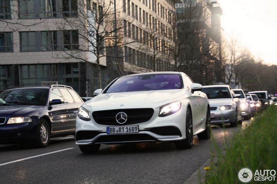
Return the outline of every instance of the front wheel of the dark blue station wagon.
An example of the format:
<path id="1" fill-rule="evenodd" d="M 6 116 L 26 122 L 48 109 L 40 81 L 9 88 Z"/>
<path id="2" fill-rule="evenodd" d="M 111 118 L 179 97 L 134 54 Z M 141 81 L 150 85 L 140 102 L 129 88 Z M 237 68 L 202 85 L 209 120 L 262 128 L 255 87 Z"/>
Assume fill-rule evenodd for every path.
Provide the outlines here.
<path id="1" fill-rule="evenodd" d="M 44 148 L 50 141 L 50 129 L 45 119 L 41 119 L 36 133 L 36 148 Z"/>

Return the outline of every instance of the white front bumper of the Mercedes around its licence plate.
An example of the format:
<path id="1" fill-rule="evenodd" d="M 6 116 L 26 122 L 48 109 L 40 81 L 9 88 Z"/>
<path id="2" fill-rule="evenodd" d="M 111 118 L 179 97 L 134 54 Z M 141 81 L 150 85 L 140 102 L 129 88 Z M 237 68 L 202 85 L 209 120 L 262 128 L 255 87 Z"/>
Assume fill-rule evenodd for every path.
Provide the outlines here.
<path id="1" fill-rule="evenodd" d="M 159 106 L 154 109 L 152 118 L 144 123 L 137 123 L 127 126 L 139 126 L 138 133 L 107 134 L 108 125 L 100 125 L 92 117 L 90 121 L 76 119 L 76 144 L 122 144 L 141 143 L 151 141 L 180 141 L 185 137 L 185 117 L 187 107 L 182 104 L 181 109 L 169 116 L 158 117 Z M 90 114 L 92 114 L 90 112 Z M 124 125 L 122 125 L 124 126 Z M 122 127 L 121 126 L 121 127 Z M 154 129 L 164 129 L 164 133 L 154 131 Z M 174 131 L 170 131 L 175 129 Z M 168 130 L 168 131 L 167 131 Z"/>

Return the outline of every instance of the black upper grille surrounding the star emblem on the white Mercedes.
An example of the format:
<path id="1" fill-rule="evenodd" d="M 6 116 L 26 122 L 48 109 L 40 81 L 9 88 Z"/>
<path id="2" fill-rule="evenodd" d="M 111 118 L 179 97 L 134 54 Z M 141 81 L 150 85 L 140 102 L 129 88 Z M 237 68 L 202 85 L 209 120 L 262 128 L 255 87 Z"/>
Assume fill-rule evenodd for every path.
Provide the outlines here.
<path id="1" fill-rule="evenodd" d="M 127 114 L 127 121 L 125 123 L 117 123 L 116 115 L 120 112 Z M 154 114 L 154 109 L 143 108 L 143 109 L 113 109 L 113 110 L 101 110 L 94 111 L 92 113 L 93 119 L 96 123 L 102 125 L 112 126 L 124 126 L 136 123 L 143 123 L 149 121 Z"/>

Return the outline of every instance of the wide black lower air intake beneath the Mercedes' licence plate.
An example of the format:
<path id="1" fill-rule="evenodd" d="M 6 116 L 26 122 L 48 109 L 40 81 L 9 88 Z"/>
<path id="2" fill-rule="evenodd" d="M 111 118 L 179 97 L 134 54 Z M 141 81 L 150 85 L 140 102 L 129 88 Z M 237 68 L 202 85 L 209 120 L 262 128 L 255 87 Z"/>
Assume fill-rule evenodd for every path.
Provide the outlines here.
<path id="1" fill-rule="evenodd" d="M 154 137 L 147 133 L 130 133 L 118 135 L 100 136 L 94 143 L 122 143 L 122 142 L 148 142 L 157 141 Z"/>

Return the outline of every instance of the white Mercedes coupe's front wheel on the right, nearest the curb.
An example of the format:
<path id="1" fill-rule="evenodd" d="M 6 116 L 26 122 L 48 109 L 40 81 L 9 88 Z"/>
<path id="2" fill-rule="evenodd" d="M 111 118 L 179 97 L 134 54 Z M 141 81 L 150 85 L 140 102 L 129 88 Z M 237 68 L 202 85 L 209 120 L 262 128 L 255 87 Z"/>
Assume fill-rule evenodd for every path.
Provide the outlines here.
<path id="1" fill-rule="evenodd" d="M 192 113 L 187 108 L 186 113 L 186 139 L 182 141 L 176 141 L 175 147 L 177 149 L 189 149 L 193 145 L 193 127 L 192 127 Z"/>

